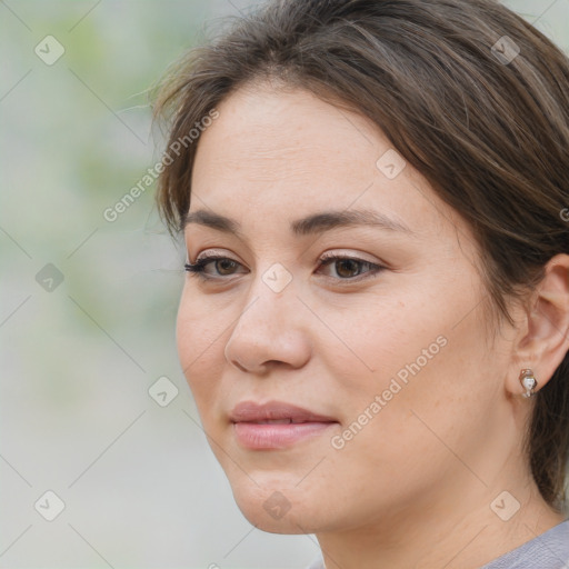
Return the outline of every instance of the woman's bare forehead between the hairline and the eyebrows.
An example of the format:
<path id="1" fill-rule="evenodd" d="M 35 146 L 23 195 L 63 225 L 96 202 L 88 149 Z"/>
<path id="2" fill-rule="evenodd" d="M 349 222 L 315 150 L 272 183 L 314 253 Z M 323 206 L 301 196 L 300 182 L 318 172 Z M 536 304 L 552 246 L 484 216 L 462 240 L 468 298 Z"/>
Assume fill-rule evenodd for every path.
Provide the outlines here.
<path id="1" fill-rule="evenodd" d="M 190 211 L 206 206 L 243 224 L 254 216 L 259 224 L 312 211 L 372 208 L 405 219 L 418 232 L 459 222 L 360 114 L 305 90 L 267 84 L 236 91 L 218 111 L 199 140 Z"/>

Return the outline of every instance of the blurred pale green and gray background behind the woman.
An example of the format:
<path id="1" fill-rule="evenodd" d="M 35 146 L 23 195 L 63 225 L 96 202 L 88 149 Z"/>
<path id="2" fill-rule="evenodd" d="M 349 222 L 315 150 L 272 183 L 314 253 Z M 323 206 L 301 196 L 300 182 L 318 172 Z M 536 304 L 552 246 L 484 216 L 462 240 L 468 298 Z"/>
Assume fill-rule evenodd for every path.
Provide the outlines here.
<path id="1" fill-rule="evenodd" d="M 506 3 L 569 51 L 569 0 Z M 199 428 L 174 347 L 184 256 L 153 186 L 103 216 L 160 159 L 148 89 L 249 4 L 0 1 L 0 568 L 318 553 L 244 520 Z"/>

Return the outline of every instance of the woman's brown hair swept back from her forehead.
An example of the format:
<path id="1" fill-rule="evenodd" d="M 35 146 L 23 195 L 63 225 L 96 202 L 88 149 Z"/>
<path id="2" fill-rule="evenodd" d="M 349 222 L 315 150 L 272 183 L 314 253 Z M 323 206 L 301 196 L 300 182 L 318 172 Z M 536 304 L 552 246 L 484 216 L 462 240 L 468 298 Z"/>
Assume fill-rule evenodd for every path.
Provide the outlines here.
<path id="1" fill-rule="evenodd" d="M 154 106 L 171 118 L 169 148 L 187 142 L 159 179 L 172 233 L 190 204 L 198 142 L 188 133 L 236 89 L 269 78 L 386 133 L 472 228 L 492 307 L 510 323 L 508 299 L 569 253 L 569 61 L 493 0 L 272 0 L 191 50 Z M 526 443 L 541 495 L 561 511 L 569 356 L 535 398 Z"/>

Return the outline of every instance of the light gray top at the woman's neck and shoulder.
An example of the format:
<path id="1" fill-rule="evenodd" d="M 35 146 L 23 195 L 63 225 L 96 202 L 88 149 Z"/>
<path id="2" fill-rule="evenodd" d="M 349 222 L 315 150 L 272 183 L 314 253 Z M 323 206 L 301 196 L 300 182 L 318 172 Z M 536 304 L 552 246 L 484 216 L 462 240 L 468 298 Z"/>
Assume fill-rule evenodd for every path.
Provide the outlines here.
<path id="1" fill-rule="evenodd" d="M 326 569 L 322 557 L 307 569 Z M 480 569 L 569 569 L 569 519 Z"/>

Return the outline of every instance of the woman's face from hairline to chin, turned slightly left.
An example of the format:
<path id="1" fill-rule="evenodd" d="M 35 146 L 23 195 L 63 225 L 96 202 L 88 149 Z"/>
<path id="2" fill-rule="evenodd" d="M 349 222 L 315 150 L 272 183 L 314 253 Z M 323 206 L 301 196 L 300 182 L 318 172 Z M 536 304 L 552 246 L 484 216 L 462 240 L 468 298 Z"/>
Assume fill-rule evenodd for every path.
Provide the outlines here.
<path id="1" fill-rule="evenodd" d="M 511 343 L 488 340 L 469 228 L 358 114 L 269 86 L 218 110 L 186 242 L 222 260 L 187 274 L 177 337 L 244 516 L 308 533 L 488 508 Z"/>

